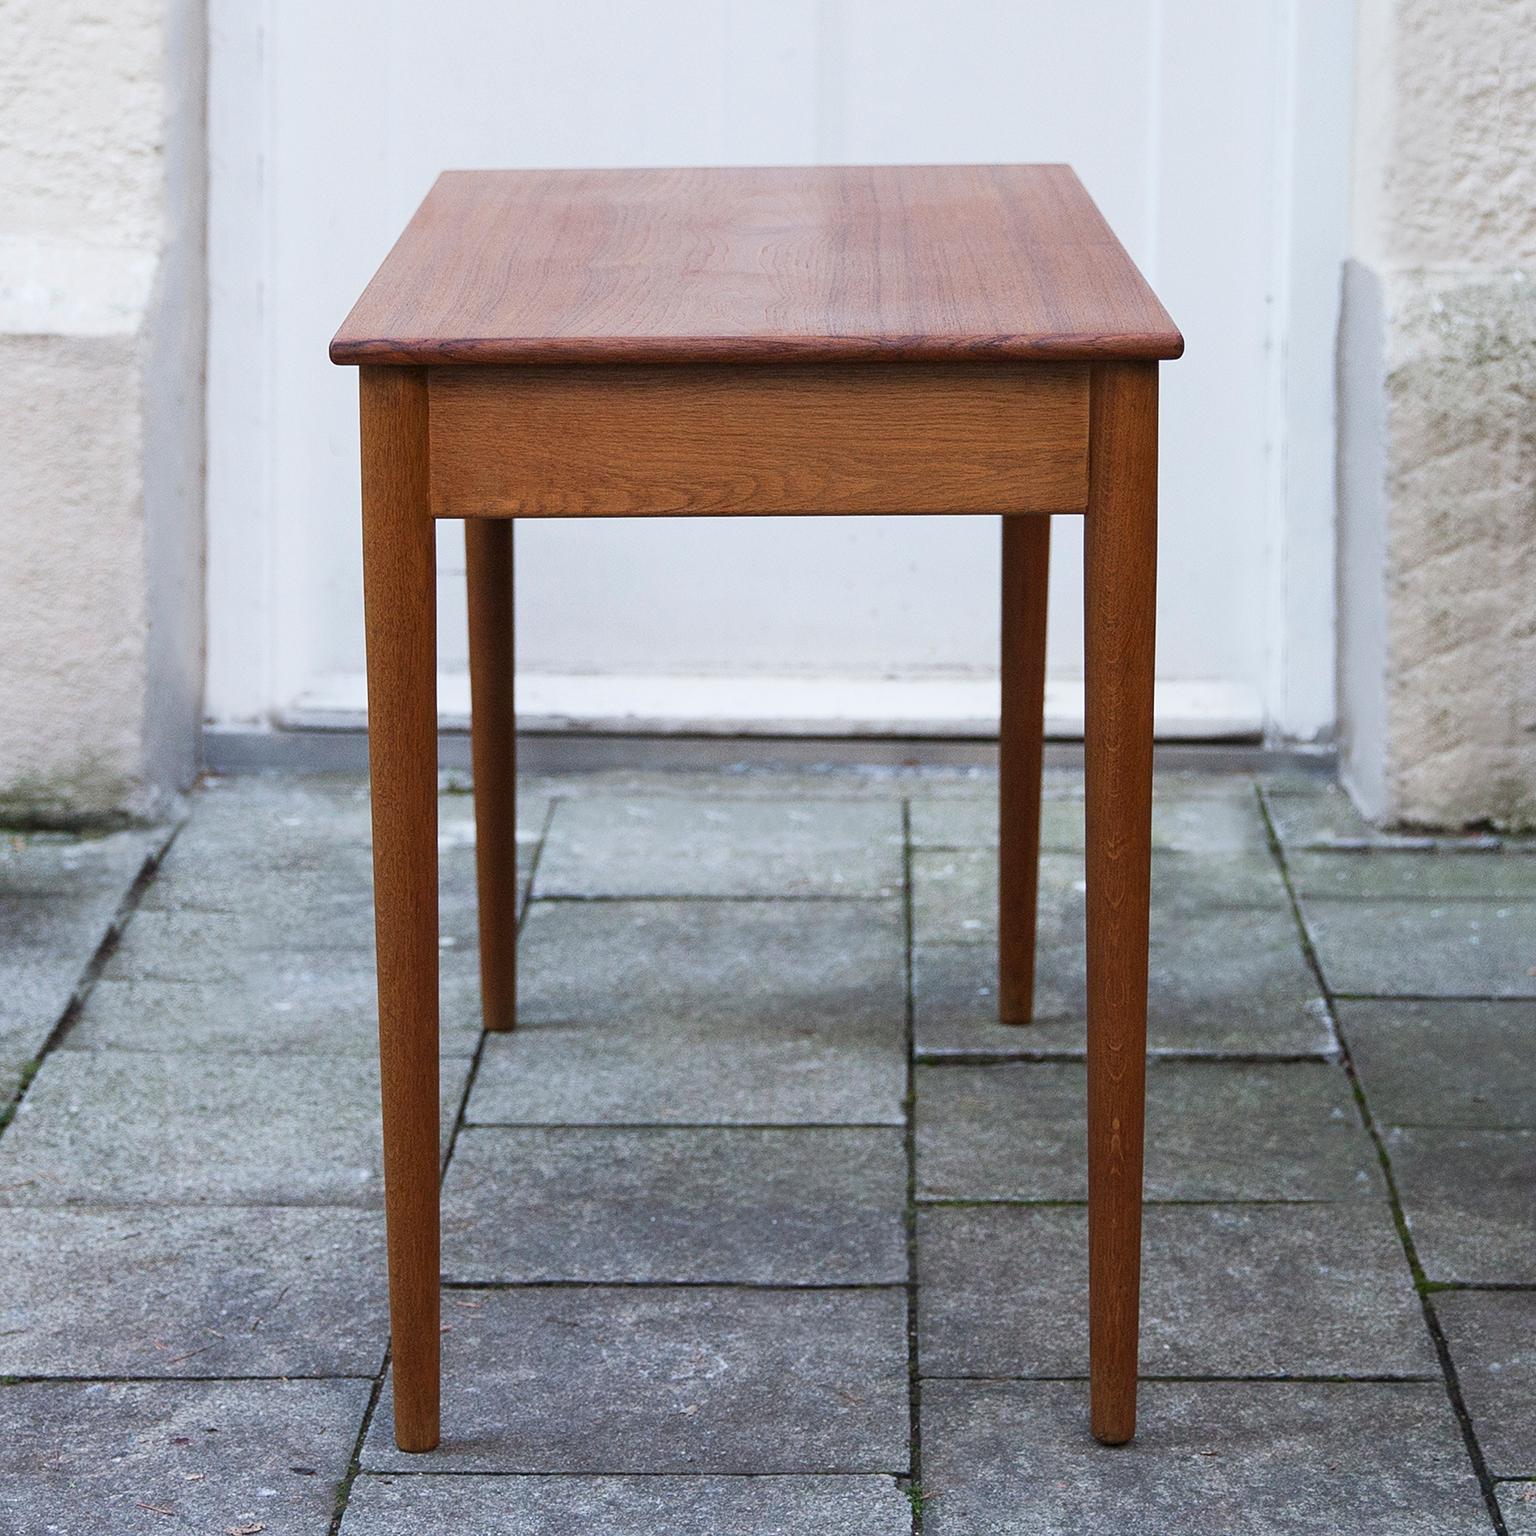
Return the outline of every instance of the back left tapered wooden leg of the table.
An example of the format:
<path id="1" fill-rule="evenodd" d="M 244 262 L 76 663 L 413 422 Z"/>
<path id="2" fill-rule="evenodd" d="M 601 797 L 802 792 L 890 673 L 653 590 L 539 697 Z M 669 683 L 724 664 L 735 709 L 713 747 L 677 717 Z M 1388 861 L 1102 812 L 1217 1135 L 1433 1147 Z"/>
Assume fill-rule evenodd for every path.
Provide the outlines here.
<path id="1" fill-rule="evenodd" d="M 511 519 L 464 524 L 470 605 L 470 753 L 479 886 L 481 1014 L 518 1020 L 518 725 L 513 703 Z"/>

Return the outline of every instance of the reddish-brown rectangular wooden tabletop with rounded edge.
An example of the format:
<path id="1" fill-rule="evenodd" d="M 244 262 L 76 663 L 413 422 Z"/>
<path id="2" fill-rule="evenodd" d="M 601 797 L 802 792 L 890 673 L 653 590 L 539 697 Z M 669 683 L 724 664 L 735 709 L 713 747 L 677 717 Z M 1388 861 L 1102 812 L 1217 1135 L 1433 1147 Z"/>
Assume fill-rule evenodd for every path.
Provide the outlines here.
<path id="1" fill-rule="evenodd" d="M 336 362 L 1175 358 L 1068 166 L 450 170 Z"/>

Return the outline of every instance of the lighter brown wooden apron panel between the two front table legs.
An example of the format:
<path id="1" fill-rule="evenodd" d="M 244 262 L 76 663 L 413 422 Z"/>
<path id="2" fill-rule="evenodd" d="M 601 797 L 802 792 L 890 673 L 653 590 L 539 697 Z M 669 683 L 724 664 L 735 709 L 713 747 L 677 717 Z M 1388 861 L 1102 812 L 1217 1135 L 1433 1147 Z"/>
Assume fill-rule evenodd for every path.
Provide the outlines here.
<path id="1" fill-rule="evenodd" d="M 1087 369 L 432 369 L 439 518 L 1081 511 Z"/>

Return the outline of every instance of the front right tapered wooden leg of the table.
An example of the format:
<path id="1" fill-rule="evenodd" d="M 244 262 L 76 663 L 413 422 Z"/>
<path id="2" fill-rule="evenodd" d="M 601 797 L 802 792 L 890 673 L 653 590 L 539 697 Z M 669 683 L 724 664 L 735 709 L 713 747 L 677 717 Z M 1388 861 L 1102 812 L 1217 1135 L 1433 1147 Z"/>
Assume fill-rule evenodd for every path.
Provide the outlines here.
<path id="1" fill-rule="evenodd" d="M 1084 536 L 1087 773 L 1087 1230 L 1092 1427 L 1137 1424 L 1157 364 L 1094 369 Z"/>

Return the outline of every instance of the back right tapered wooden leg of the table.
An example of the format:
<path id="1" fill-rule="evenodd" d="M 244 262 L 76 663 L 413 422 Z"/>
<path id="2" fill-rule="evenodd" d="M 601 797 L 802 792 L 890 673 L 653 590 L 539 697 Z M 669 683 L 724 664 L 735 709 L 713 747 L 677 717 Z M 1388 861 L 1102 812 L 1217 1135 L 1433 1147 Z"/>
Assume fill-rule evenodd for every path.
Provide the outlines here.
<path id="1" fill-rule="evenodd" d="M 1003 713 L 997 776 L 997 1017 L 1035 1008 L 1040 763 L 1044 751 L 1046 585 L 1051 519 L 1003 518 Z"/>

